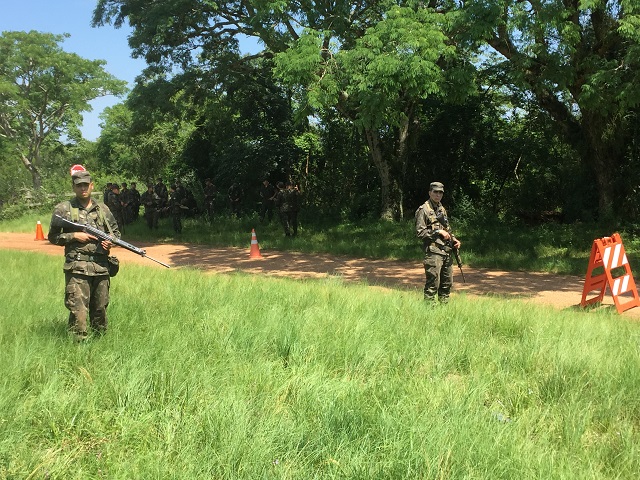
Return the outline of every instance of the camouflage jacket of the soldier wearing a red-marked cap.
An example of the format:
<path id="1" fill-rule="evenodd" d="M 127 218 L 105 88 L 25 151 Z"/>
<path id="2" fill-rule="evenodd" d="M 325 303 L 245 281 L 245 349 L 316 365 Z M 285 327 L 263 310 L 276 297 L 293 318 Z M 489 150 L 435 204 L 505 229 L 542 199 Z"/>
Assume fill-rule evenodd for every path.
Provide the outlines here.
<path id="1" fill-rule="evenodd" d="M 78 209 L 78 218 L 73 218 L 72 209 Z M 49 228 L 49 241 L 54 245 L 64 246 L 65 272 L 79 273 L 82 275 L 97 276 L 108 275 L 107 252 L 102 248 L 99 240 L 82 243 L 74 240 L 72 230 L 60 226 L 55 215 L 80 224 L 87 224 L 100 230 L 111 233 L 120 238 L 118 224 L 109 208 L 95 201 L 91 202 L 88 210 L 80 205 L 76 198 L 71 201 L 61 202 L 51 217 Z M 111 232 L 107 223 L 111 226 Z"/>

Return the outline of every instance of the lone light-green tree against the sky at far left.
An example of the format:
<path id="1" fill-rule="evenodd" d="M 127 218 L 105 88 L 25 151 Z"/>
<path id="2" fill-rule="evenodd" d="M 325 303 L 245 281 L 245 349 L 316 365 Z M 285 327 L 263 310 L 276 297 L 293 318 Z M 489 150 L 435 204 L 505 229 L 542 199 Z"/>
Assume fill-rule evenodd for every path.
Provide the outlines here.
<path id="1" fill-rule="evenodd" d="M 89 102 L 126 90 L 104 61 L 63 51 L 59 44 L 67 37 L 36 31 L 0 36 L 0 136 L 30 172 L 34 189 L 42 184 L 45 142 L 78 138 Z"/>

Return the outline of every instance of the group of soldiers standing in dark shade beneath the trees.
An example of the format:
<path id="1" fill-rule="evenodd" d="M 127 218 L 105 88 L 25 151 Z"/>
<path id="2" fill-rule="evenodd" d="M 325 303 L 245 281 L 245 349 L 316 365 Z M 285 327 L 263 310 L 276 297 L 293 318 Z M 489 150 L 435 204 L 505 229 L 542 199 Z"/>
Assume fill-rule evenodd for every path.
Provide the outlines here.
<path id="1" fill-rule="evenodd" d="M 202 212 L 213 218 L 216 212 L 217 188 L 210 178 L 205 180 L 203 188 L 204 202 Z M 300 210 L 300 189 L 293 182 L 277 182 L 274 186 L 268 179 L 262 182 L 260 195 L 260 221 L 271 222 L 274 212 L 278 213 L 286 236 L 298 234 L 298 212 Z M 239 183 L 233 183 L 227 191 L 231 215 L 240 216 L 244 200 L 244 190 Z M 144 206 L 144 219 L 149 229 L 157 229 L 161 217 L 170 216 L 173 230 L 182 232 L 182 218 L 195 216 L 198 205 L 191 190 L 185 188 L 180 181 L 167 187 L 162 178 L 156 183 L 147 183 L 147 190 L 140 193 L 135 182 L 131 188 L 122 183 L 108 183 L 104 191 L 104 202 L 113 213 L 120 232 L 125 225 L 138 219 L 140 206 Z"/>

